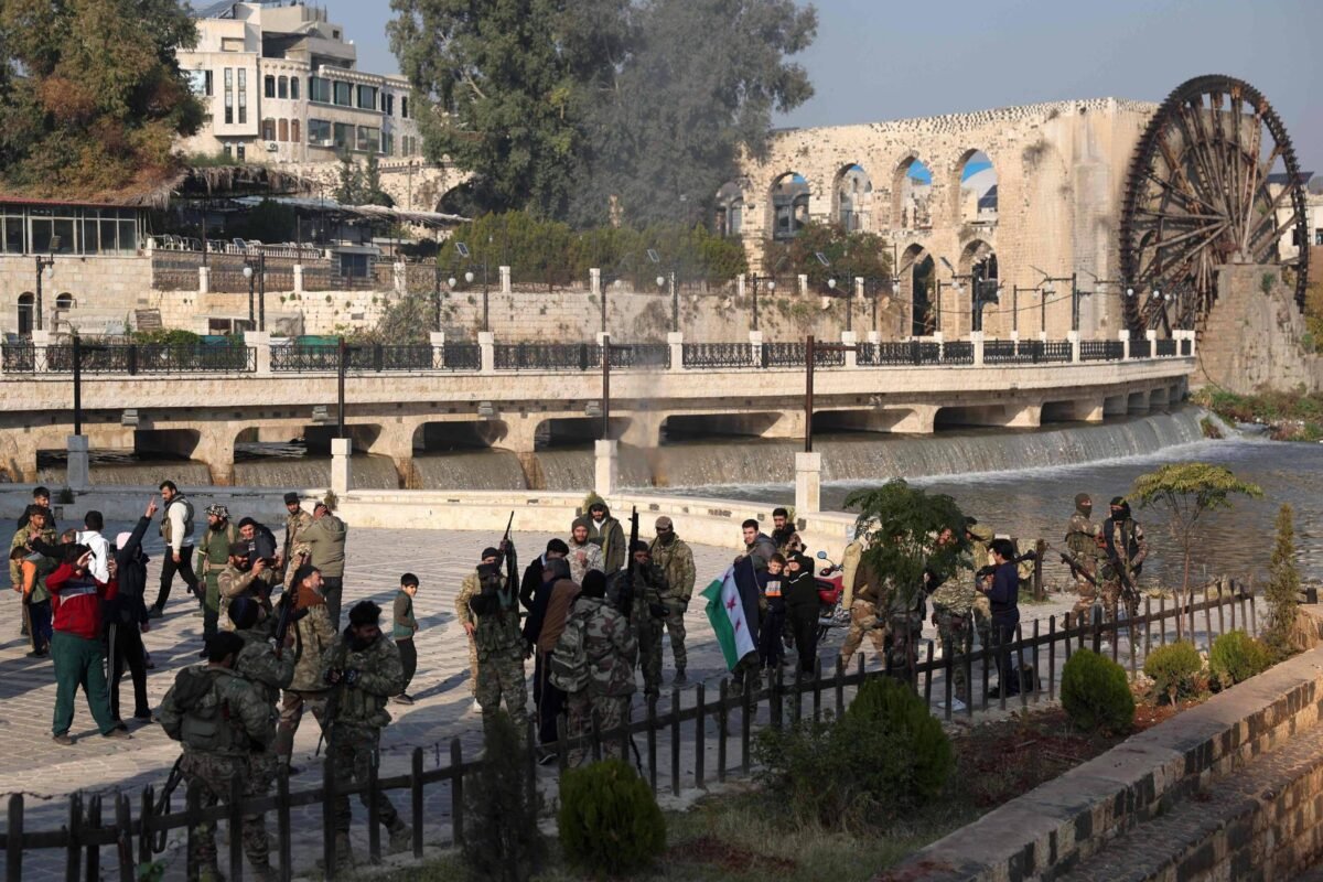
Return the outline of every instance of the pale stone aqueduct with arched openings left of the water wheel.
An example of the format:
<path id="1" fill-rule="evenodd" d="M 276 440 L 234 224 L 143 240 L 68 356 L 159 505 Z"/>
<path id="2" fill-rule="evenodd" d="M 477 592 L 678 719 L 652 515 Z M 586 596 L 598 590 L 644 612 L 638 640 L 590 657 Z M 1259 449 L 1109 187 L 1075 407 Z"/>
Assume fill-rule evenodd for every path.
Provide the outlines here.
<path id="1" fill-rule="evenodd" d="M 929 257 L 942 282 L 941 329 L 947 339 L 966 336 L 970 283 L 959 276 L 995 254 L 1003 295 L 984 313 L 988 336 L 1008 337 L 1012 329 L 1036 336 L 1045 312 L 1048 336 L 1064 337 L 1072 323 L 1069 280 L 1045 296 L 1021 291 L 1017 320 L 1013 286 L 1035 288 L 1044 272 L 1078 272 L 1078 287 L 1090 292 L 1080 301 L 1081 336 L 1114 339 L 1125 328 L 1115 280 L 1126 172 L 1156 107 L 1107 98 L 790 130 L 773 139 L 763 160 L 746 161 L 734 182 L 738 193 L 728 186 L 722 201 L 738 212 L 740 233 L 761 271 L 773 270 L 762 266 L 761 242 L 778 233 L 778 222 L 785 229 L 787 213 L 792 223 L 847 214 L 851 226 L 884 235 L 898 255 L 900 286 L 884 300 L 898 336 L 912 321 L 913 268 Z M 978 210 L 962 194 L 966 163 L 978 153 L 995 172 L 991 210 Z M 927 188 L 912 182 L 918 164 L 930 172 Z"/>

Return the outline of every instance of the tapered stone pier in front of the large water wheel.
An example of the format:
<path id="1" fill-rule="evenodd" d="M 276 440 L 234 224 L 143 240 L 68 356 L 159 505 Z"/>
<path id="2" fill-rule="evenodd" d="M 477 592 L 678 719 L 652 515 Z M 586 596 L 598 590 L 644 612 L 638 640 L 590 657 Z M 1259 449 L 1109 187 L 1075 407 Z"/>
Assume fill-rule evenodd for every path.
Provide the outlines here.
<path id="1" fill-rule="evenodd" d="M 1304 316 L 1274 266 L 1229 264 L 1220 270 L 1217 301 L 1199 345 L 1200 370 L 1191 385 L 1240 394 L 1323 389 L 1323 360 L 1304 352 Z"/>

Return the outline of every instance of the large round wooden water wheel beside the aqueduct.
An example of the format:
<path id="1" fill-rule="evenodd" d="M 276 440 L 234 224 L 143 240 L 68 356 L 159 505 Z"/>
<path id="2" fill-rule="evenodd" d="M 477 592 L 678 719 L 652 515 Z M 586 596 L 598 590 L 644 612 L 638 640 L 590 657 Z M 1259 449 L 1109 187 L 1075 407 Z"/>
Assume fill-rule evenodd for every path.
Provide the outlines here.
<path id="1" fill-rule="evenodd" d="M 1290 266 L 1303 308 L 1304 181 L 1286 127 L 1257 89 L 1196 77 L 1162 103 L 1130 163 L 1121 270 L 1131 332 L 1195 328 L 1225 263 Z"/>

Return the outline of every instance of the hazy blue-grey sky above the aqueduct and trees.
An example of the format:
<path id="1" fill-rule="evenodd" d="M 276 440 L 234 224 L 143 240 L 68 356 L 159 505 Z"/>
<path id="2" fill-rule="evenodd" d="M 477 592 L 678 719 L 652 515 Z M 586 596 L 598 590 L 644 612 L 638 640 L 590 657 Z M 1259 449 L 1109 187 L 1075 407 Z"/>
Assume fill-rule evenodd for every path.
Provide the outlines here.
<path id="1" fill-rule="evenodd" d="M 388 0 L 320 0 L 360 66 L 396 73 Z M 799 57 L 816 95 L 778 126 L 833 126 L 1066 98 L 1160 100 L 1225 73 L 1273 103 L 1323 175 L 1323 0 L 819 0 Z"/>

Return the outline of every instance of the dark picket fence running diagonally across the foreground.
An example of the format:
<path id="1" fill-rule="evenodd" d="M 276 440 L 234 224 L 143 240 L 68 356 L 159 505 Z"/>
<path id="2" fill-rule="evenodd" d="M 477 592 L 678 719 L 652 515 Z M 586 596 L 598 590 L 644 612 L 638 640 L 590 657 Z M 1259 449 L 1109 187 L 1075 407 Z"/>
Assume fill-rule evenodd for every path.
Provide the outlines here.
<path id="1" fill-rule="evenodd" d="M 1093 652 L 1110 653 L 1114 661 L 1129 666 L 1134 677 L 1143 659 L 1155 645 L 1166 645 L 1168 636 L 1193 640 L 1199 645 L 1199 624 L 1203 624 L 1204 648 L 1209 648 L 1217 633 L 1245 629 L 1257 633 L 1254 596 L 1232 581 L 1222 581 L 1205 590 L 1205 598 L 1197 602 L 1171 603 L 1159 598 L 1155 604 L 1144 598 L 1142 612 L 1134 616 L 1103 620 L 1101 615 L 1091 620 L 1085 616 L 1064 615 L 1033 620 L 1029 627 L 1017 625 L 1015 639 L 998 644 L 995 639 L 988 645 L 974 648 L 970 629 L 963 648 L 943 647 L 937 657 L 935 644 L 929 641 L 921 657 L 912 652 L 908 662 L 888 666 L 882 670 L 865 670 L 864 657 L 857 656 L 853 670 L 847 669 L 844 660 L 836 659 L 833 670 L 824 676 L 822 660 L 815 664 L 812 674 L 795 666 L 794 678 L 786 682 L 783 669 L 777 668 L 770 682 L 759 684 L 757 689 L 736 693 L 728 680 L 721 680 L 709 700 L 706 686 L 699 684 L 693 689 L 693 705 L 681 702 L 681 692 L 672 689 L 668 707 L 659 709 L 658 697 L 647 701 L 640 719 L 624 726 L 598 731 L 591 727 L 586 735 L 565 737 L 564 717 L 560 721 L 562 737 L 554 744 L 558 774 L 569 768 L 572 751 L 583 751 L 598 759 L 605 751 L 631 755 L 635 735 L 642 735 L 643 747 L 636 748 L 643 775 L 654 791 L 669 789 L 680 795 L 685 785 L 703 788 L 706 782 L 725 782 L 730 775 L 747 776 L 751 771 L 753 733 L 759 726 L 783 727 L 798 723 L 806 715 L 814 719 L 823 717 L 824 710 L 837 717 L 848 706 L 848 688 L 857 688 L 869 678 L 894 677 L 908 682 L 921 696 L 930 709 L 946 719 L 955 714 L 972 717 L 988 709 L 1007 710 L 1009 705 L 1028 709 L 1044 698 L 1053 701 L 1057 693 L 1057 661 L 1066 661 L 1074 652 L 1090 648 Z M 1175 631 L 1175 633 L 1172 633 Z M 1121 652 L 1121 643 L 1127 643 L 1127 651 Z M 906 640 L 906 645 L 917 647 L 919 641 Z M 1019 696 L 1008 696 L 999 688 L 992 694 L 991 676 L 998 669 L 1000 659 L 1009 657 L 1012 669 L 1019 672 L 1021 688 Z M 963 676 L 968 693 L 962 707 L 957 707 L 957 674 Z M 934 706 L 934 692 L 937 693 Z M 851 696 L 852 698 L 852 696 Z M 807 705 L 807 706 L 806 706 Z M 766 718 L 759 711 L 766 709 Z M 716 730 L 713 738 L 709 729 Z M 529 748 L 523 752 L 520 768 L 524 771 L 525 785 L 536 787 L 537 752 L 534 723 L 527 731 Z M 681 763 L 681 748 L 692 742 L 693 754 Z M 119 878 L 122 882 L 136 879 L 138 865 L 151 863 L 155 854 L 165 846 L 171 830 L 187 830 L 193 836 L 202 822 L 225 822 L 228 825 L 229 878 L 241 879 L 246 869 L 241 828 L 245 816 L 274 812 L 277 816 L 275 865 L 278 878 L 290 879 L 294 875 L 292 840 L 294 819 L 291 811 L 304 805 L 321 807 L 321 853 L 325 861 L 324 877 L 335 878 L 333 846 L 333 796 L 366 793 L 368 799 L 368 850 L 369 860 L 381 860 L 381 826 L 376 811 L 376 796 L 384 791 L 406 791 L 409 808 L 402 812 L 411 819 L 413 854 L 423 856 L 423 842 L 437 841 L 439 820 L 431 820 L 425 812 L 427 788 L 446 785 L 450 797 L 450 840 L 455 845 L 463 841 L 467 826 L 464 817 L 464 779 L 476 774 L 484 760 L 466 759 L 458 738 L 450 741 L 448 763 L 441 764 L 441 746 L 437 746 L 435 768 L 425 768 L 425 751 L 414 747 L 410 771 L 404 775 L 381 776 L 380 770 L 369 768 L 368 780 L 351 788 L 336 787 L 335 768 L 329 759 L 321 766 L 321 785 L 310 789 L 291 791 L 287 768 L 282 767 L 275 782 L 275 792 L 267 796 L 245 797 L 243 783 L 234 779 L 230 799 L 214 808 L 202 808 L 200 792 L 192 788 L 187 793 L 184 811 L 175 811 L 169 799 L 157 800 L 156 789 L 143 788 L 135 812 L 134 799 L 116 793 L 110 799 L 110 819 L 106 819 L 101 796 L 83 799 L 75 793 L 69 799 L 67 822 L 60 829 L 33 830 L 24 822 L 25 797 L 22 793 L 9 796 L 7 824 L 0 832 L 0 846 L 5 850 L 7 879 L 21 882 L 24 874 L 24 854 L 37 850 L 60 850 L 65 853 L 65 875 L 69 879 Z M 667 755 L 668 754 L 668 755 Z M 163 811 L 157 811 L 157 808 Z M 302 832 L 302 828 L 300 828 Z M 111 849 L 112 865 L 102 869 L 103 849 Z"/>

